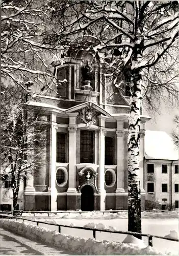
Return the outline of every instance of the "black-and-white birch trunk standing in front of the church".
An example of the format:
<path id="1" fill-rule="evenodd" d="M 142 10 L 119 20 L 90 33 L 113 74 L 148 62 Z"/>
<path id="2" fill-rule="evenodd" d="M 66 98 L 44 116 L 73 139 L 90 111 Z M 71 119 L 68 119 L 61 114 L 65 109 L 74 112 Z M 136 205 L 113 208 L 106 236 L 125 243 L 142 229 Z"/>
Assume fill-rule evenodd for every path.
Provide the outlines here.
<path id="1" fill-rule="evenodd" d="M 128 135 L 128 230 L 141 233 L 141 196 L 139 173 L 141 71 L 131 76 L 131 104 Z M 141 239 L 141 236 L 138 236 Z"/>

